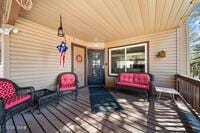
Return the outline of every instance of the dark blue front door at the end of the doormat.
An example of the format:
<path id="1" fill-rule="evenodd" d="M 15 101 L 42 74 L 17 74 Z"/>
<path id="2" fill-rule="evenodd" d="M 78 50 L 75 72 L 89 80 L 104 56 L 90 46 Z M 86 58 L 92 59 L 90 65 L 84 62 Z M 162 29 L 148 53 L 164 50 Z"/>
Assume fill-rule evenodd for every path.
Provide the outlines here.
<path id="1" fill-rule="evenodd" d="M 88 85 L 104 85 L 104 50 L 88 50 Z"/>

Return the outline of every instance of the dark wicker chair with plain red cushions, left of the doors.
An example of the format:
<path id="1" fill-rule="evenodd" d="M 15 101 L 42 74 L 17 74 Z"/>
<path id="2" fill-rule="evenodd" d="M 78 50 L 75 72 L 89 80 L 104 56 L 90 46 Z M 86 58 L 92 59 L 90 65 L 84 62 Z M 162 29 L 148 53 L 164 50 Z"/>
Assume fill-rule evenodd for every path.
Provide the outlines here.
<path id="1" fill-rule="evenodd" d="M 58 97 L 63 96 L 64 92 L 71 91 L 77 100 L 79 82 L 77 75 L 72 72 L 64 72 L 57 76 L 56 89 Z"/>

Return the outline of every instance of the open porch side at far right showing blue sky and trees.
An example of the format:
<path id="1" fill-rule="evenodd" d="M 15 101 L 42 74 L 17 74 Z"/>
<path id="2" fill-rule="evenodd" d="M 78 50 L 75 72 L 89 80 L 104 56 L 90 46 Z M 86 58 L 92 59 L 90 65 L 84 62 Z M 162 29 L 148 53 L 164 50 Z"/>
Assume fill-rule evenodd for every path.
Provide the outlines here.
<path id="1" fill-rule="evenodd" d="M 190 76 L 200 79 L 200 4 L 192 11 L 188 19 Z"/>

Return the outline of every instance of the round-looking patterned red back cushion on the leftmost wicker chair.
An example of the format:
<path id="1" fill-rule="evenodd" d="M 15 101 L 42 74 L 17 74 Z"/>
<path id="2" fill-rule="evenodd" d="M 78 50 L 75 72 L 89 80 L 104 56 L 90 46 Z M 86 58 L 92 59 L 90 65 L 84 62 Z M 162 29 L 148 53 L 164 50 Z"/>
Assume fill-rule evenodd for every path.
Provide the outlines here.
<path id="1" fill-rule="evenodd" d="M 15 88 L 12 83 L 0 81 L 0 98 L 7 99 L 15 94 Z"/>

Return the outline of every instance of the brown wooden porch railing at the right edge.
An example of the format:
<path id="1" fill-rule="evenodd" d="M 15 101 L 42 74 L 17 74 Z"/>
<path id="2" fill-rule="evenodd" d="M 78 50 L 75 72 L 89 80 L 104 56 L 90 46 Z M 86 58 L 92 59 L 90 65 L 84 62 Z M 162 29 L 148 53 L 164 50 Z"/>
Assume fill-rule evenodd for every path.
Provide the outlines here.
<path id="1" fill-rule="evenodd" d="M 200 81 L 187 76 L 176 75 L 176 89 L 179 91 L 188 106 L 191 107 L 191 111 L 199 116 Z"/>

